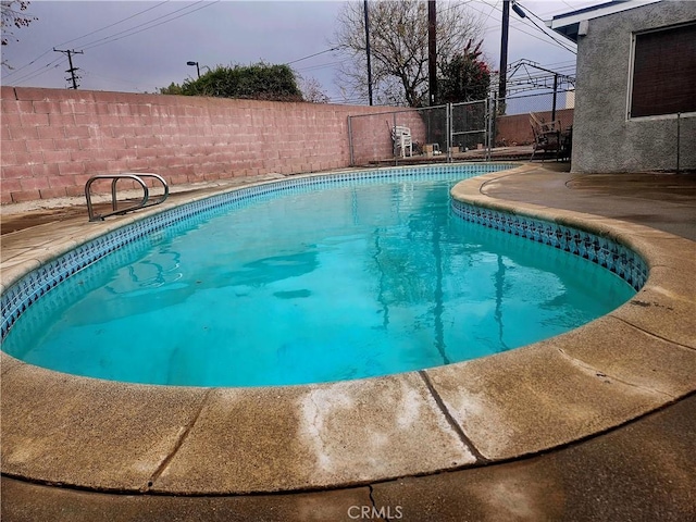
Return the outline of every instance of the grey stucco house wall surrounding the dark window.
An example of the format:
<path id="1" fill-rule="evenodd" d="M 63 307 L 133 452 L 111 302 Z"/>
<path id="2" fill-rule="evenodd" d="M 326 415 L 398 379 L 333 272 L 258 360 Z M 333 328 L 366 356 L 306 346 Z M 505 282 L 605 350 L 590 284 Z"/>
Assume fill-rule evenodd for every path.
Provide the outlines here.
<path id="1" fill-rule="evenodd" d="M 696 169 L 696 113 L 627 117 L 636 32 L 696 20 L 696 2 L 669 1 L 591 20 L 577 41 L 573 172 Z M 679 139 L 678 139 L 679 134 Z"/>

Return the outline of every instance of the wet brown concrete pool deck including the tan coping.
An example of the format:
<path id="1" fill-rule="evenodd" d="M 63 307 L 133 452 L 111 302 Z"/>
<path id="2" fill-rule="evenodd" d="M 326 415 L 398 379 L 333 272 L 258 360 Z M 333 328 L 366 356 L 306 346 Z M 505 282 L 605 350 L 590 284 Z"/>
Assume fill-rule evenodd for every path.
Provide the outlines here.
<path id="1" fill-rule="evenodd" d="M 352 506 L 403 520 L 688 520 L 696 184 L 556 166 L 457 192 L 621 238 L 650 265 L 629 303 L 499 356 L 314 386 L 124 385 L 3 355 L 3 520 L 356 520 Z M 88 224 L 83 212 L 3 235 L 3 288 L 146 213 Z"/>

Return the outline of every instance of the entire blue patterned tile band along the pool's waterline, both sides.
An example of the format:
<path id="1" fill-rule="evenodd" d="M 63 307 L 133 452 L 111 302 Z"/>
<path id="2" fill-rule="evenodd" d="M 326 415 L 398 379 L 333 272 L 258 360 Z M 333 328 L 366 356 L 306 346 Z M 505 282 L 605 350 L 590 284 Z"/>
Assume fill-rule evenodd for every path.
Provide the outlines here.
<path id="1" fill-rule="evenodd" d="M 227 212 L 250 202 L 271 198 L 278 192 L 298 194 L 328 187 L 368 185 L 389 179 L 426 181 L 438 178 L 443 175 L 452 175 L 452 179 L 465 179 L 490 172 L 510 170 L 515 166 L 518 165 L 509 163 L 474 163 L 321 174 L 244 187 L 185 203 L 87 241 L 23 276 L 8 288 L 0 299 L 2 312 L 0 338 L 4 339 L 22 313 L 47 291 L 70 276 L 144 236 L 159 231 L 176 228 L 177 224 L 188 217 Z M 647 265 L 643 259 L 633 250 L 606 237 L 551 222 L 484 209 L 458 200 L 452 200 L 452 209 L 457 215 L 467 221 L 537 243 L 544 243 L 588 259 L 614 272 L 636 290 L 647 279 Z"/>

